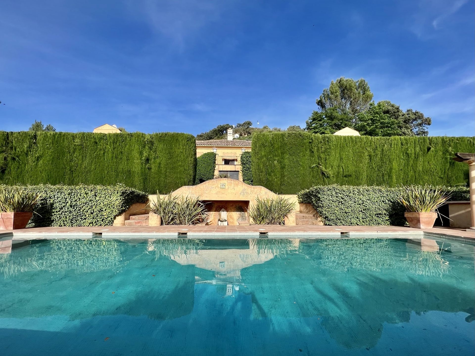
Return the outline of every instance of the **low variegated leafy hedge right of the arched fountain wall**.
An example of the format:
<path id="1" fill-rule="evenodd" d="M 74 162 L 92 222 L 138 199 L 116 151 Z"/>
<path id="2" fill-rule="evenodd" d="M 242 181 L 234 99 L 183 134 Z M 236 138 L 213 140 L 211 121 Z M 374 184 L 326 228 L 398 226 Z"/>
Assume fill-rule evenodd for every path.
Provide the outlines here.
<path id="1" fill-rule="evenodd" d="M 451 201 L 470 200 L 469 189 L 455 187 Z M 399 202 L 402 187 L 323 185 L 297 194 L 309 203 L 325 225 L 404 225 L 404 207 Z"/>

